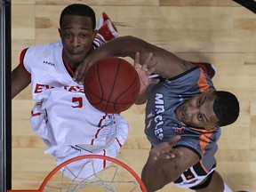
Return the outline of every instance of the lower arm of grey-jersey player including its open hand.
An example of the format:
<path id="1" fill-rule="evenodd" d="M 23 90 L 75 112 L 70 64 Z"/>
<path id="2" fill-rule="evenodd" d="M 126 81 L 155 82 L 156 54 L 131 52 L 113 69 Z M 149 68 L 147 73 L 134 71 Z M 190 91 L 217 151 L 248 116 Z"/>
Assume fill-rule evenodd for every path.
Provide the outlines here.
<path id="1" fill-rule="evenodd" d="M 188 148 L 172 148 L 177 140 L 180 140 L 180 136 L 150 150 L 148 161 L 141 173 L 148 192 L 156 191 L 177 180 L 182 172 L 199 161 L 196 153 Z"/>

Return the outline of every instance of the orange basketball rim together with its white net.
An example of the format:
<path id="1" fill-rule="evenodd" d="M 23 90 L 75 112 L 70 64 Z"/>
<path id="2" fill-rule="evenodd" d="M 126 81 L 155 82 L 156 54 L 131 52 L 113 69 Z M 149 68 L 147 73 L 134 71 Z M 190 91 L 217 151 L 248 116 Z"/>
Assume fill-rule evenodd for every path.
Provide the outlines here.
<path id="1" fill-rule="evenodd" d="M 108 164 L 99 169 L 97 162 Z M 79 164 L 76 172 L 70 167 Z M 88 170 L 88 165 L 90 169 Z M 147 192 L 142 180 L 128 165 L 109 156 L 84 155 L 76 156 L 58 165 L 44 179 L 37 190 L 8 190 L 8 192 Z"/>

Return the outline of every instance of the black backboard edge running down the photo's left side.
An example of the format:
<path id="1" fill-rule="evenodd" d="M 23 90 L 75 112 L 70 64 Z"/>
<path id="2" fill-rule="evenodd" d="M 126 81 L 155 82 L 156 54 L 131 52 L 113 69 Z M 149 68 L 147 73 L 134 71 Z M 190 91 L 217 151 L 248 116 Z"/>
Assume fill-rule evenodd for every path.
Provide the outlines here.
<path id="1" fill-rule="evenodd" d="M 0 0 L 0 191 L 11 188 L 11 0 Z"/>

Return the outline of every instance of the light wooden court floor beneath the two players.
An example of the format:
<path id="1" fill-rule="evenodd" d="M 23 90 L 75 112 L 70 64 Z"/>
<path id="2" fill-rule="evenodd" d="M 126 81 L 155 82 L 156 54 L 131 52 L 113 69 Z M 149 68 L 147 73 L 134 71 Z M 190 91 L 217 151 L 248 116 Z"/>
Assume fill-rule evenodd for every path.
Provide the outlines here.
<path id="1" fill-rule="evenodd" d="M 231 0 L 12 0 L 12 68 L 23 48 L 59 40 L 62 9 L 89 4 L 107 12 L 120 36 L 138 36 L 191 61 L 217 68 L 213 83 L 234 92 L 241 105 L 235 124 L 223 127 L 217 170 L 234 191 L 256 191 L 256 15 Z M 55 166 L 44 143 L 29 128 L 34 102 L 27 88 L 12 100 L 12 188 L 36 189 Z M 129 138 L 118 159 L 140 175 L 149 143 L 143 129 L 145 106 L 123 113 Z M 160 191 L 190 191 L 170 184 Z"/>

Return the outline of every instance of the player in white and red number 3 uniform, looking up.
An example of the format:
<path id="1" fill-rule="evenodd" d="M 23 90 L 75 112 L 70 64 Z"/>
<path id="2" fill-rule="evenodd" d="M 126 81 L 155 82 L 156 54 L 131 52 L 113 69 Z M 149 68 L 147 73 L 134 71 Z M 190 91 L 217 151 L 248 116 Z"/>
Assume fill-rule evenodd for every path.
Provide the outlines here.
<path id="1" fill-rule="evenodd" d="M 44 140 L 45 153 L 52 154 L 57 164 L 84 154 L 115 157 L 127 138 L 124 118 L 92 108 L 83 85 L 73 80 L 77 65 L 88 52 L 118 35 L 104 12 L 95 28 L 91 7 L 68 5 L 60 15 L 61 41 L 24 49 L 20 65 L 12 71 L 12 98 L 31 83 L 36 101 L 31 128 Z M 99 169 L 104 166 L 100 162 Z"/>

